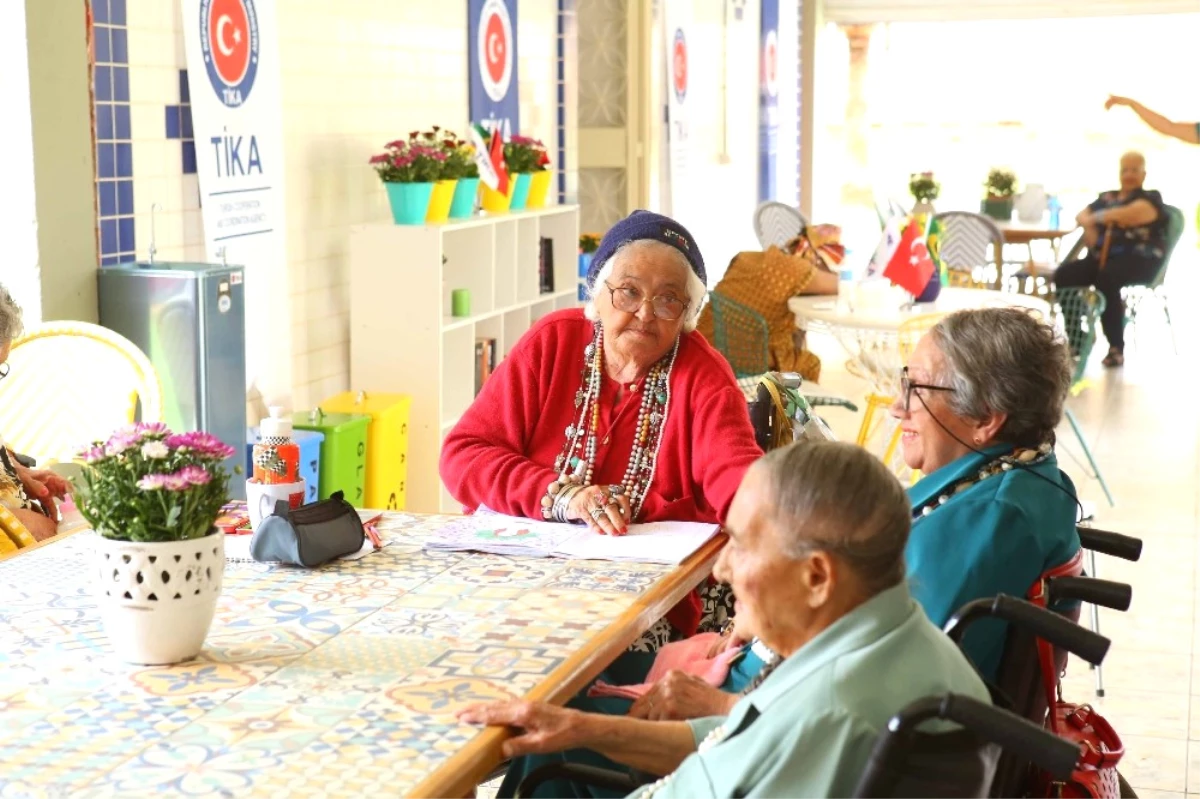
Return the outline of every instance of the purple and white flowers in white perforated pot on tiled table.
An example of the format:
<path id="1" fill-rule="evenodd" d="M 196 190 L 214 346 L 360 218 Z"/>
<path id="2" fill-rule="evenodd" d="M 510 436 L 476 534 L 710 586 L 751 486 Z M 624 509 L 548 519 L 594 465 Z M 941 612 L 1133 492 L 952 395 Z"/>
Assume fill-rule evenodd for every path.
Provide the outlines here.
<path id="1" fill-rule="evenodd" d="M 100 535 L 94 554 L 101 617 L 131 663 L 194 657 L 212 624 L 224 575 L 214 522 L 229 493 L 234 453 L 208 433 L 133 425 L 82 455 L 79 512 Z"/>

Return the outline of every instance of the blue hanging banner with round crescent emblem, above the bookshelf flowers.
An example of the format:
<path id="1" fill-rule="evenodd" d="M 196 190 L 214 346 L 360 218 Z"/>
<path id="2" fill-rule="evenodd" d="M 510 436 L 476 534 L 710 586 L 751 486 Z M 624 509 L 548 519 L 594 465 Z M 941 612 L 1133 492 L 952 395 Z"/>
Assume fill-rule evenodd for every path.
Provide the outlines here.
<path id="1" fill-rule="evenodd" d="M 470 121 L 504 140 L 520 131 L 517 0 L 467 0 Z"/>

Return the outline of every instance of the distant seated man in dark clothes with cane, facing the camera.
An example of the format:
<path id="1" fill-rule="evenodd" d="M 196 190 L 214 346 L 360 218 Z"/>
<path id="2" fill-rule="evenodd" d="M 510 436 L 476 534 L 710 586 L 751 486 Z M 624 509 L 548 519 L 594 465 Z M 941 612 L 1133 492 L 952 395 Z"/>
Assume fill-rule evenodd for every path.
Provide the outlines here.
<path id="1" fill-rule="evenodd" d="M 1121 289 L 1154 280 L 1166 257 L 1166 214 L 1163 197 L 1146 191 L 1146 160 L 1139 152 L 1121 156 L 1121 188 L 1104 192 L 1079 212 L 1087 256 L 1063 264 L 1056 286 L 1094 286 L 1104 295 L 1100 326 L 1109 341 L 1105 366 L 1124 364 L 1124 304 Z M 1079 319 L 1067 319 L 1070 328 Z"/>

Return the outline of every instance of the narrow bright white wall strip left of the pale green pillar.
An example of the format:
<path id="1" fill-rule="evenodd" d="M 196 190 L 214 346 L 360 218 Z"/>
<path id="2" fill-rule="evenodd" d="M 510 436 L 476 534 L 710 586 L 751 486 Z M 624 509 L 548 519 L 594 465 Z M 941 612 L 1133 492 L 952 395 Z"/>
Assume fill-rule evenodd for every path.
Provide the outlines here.
<path id="1" fill-rule="evenodd" d="M 0 125 L 0 152 L 6 156 L 4 214 L 0 214 L 0 238 L 6 252 L 0 283 L 24 307 L 29 325 L 41 320 L 42 284 L 37 266 L 37 198 L 24 2 L 11 4 L 0 25 L 0 108 L 11 112 Z"/>

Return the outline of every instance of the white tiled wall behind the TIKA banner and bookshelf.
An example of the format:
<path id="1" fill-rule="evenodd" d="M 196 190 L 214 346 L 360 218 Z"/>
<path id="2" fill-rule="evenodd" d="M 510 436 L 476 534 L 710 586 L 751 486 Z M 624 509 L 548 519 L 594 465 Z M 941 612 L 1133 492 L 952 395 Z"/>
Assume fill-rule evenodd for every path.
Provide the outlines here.
<path id="1" fill-rule="evenodd" d="M 179 102 L 179 4 L 127 0 L 137 242 L 157 221 L 158 257 L 202 258 L 196 175 L 164 138 Z M 287 185 L 287 301 L 293 402 L 312 407 L 349 389 L 348 232 L 390 220 L 367 166 L 383 144 L 430 125 L 467 126 L 467 4 L 421 0 L 278 0 Z M 521 0 L 521 128 L 551 145 L 556 130 L 554 0 Z M 248 348 L 259 342 L 247 342 Z M 397 342 L 397 346 L 403 346 Z M 368 389 L 370 386 L 354 386 Z"/>

